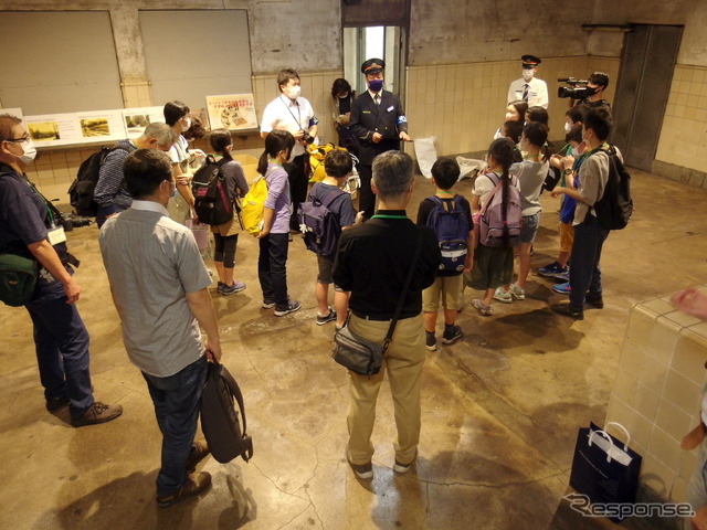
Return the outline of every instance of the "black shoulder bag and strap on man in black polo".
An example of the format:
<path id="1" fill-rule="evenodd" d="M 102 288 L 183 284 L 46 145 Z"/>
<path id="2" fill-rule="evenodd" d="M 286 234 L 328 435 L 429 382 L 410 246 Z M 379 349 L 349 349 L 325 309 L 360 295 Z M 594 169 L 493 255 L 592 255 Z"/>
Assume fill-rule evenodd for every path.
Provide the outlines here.
<path id="1" fill-rule="evenodd" d="M 395 306 L 395 312 L 390 321 L 388 333 L 383 343 L 366 339 L 354 333 L 349 327 L 348 321 L 341 329 L 334 333 L 334 349 L 331 351 L 331 358 L 341 364 L 344 368 L 349 369 L 354 373 L 359 375 L 376 375 L 380 372 L 383 364 L 383 357 L 388 350 L 388 346 L 392 341 L 393 332 L 395 331 L 395 325 L 400 319 L 402 312 L 402 306 L 412 282 L 412 275 L 420 257 L 420 250 L 422 247 L 422 232 L 418 236 L 418 243 L 415 245 L 414 255 L 408 269 L 408 276 L 402 287 L 402 293 L 398 298 L 398 305 Z"/>

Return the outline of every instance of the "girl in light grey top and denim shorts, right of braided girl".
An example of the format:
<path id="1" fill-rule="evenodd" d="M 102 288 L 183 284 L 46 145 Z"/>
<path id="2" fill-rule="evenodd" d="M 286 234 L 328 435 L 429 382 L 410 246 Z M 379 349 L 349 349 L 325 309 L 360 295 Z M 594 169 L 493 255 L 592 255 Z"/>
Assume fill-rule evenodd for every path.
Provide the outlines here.
<path id="1" fill-rule="evenodd" d="M 494 293 L 494 299 L 504 304 L 510 304 L 514 298 L 526 299 L 525 285 L 530 272 L 530 247 L 538 233 L 542 211 L 540 191 L 550 169 L 547 140 L 548 128 L 545 125 L 538 121 L 527 124 L 518 144 L 526 158 L 520 163 L 514 163 L 509 170 L 510 174 L 518 178 L 520 186 L 523 224 L 518 245 L 518 278 L 515 284 L 506 284 Z"/>

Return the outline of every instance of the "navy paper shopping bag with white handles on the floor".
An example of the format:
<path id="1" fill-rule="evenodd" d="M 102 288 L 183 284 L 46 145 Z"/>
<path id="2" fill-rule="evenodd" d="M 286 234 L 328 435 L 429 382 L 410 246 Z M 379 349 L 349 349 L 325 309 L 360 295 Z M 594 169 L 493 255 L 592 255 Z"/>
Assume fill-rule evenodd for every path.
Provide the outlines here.
<path id="1" fill-rule="evenodd" d="M 606 433 L 611 425 L 623 431 L 626 435 L 625 444 Z M 604 430 L 593 423 L 589 424 L 589 428 L 580 428 L 572 458 L 570 486 L 589 497 L 592 505 L 633 504 L 643 458 L 629 447 L 630 443 L 629 431 L 615 422 L 606 423 Z M 620 509 L 613 512 L 616 517 L 609 517 L 611 521 L 620 522 L 625 518 Z"/>

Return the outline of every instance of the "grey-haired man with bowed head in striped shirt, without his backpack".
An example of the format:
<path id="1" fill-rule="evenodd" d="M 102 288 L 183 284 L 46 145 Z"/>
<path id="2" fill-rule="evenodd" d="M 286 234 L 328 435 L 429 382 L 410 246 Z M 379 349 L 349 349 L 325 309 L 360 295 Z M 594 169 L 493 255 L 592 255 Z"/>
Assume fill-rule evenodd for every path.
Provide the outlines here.
<path id="1" fill-rule="evenodd" d="M 112 151 L 101 165 L 98 182 L 96 182 L 96 189 L 93 193 L 93 199 L 98 204 L 96 211 L 98 227 L 103 226 L 106 219 L 127 210 L 133 203 L 123 177 L 123 162 L 127 156 L 136 149 L 169 151 L 175 141 L 177 141 L 177 135 L 172 128 L 167 124 L 156 121 L 148 125 L 143 136 L 135 140 L 120 140 L 113 146 Z"/>

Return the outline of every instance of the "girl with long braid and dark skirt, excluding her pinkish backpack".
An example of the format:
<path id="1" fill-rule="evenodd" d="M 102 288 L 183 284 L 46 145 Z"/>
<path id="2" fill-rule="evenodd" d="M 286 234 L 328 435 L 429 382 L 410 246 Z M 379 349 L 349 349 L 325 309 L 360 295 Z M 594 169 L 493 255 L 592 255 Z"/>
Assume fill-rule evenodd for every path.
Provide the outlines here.
<path id="1" fill-rule="evenodd" d="M 472 210 L 478 212 L 490 200 L 496 183 L 500 181 L 502 188 L 502 215 L 506 221 L 508 216 L 509 187 L 518 186 L 518 180 L 511 177 L 514 144 L 508 138 L 494 140 L 486 159 L 486 169 L 476 177 L 472 191 Z M 513 276 L 513 246 L 508 241 L 508 229 L 504 233 L 505 244 L 502 246 L 484 246 L 481 242 L 474 252 L 474 266 L 471 275 L 466 275 L 466 283 L 472 288 L 483 290 L 482 298 L 472 300 L 474 308 L 483 316 L 493 314 L 490 307 L 494 293 L 497 287 L 510 283 Z"/>

